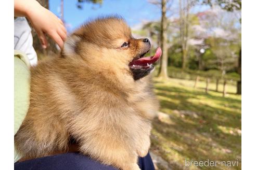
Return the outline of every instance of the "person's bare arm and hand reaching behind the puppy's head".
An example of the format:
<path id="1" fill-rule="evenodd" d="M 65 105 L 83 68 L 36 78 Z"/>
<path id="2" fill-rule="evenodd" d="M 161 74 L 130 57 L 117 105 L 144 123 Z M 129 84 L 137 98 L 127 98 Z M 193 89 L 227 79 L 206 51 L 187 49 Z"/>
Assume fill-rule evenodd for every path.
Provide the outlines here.
<path id="1" fill-rule="evenodd" d="M 63 47 L 63 42 L 67 37 L 67 31 L 63 22 L 50 12 L 48 9 L 41 6 L 35 0 L 15 0 L 14 1 L 14 16 L 27 17 L 39 36 L 42 47 L 47 47 L 45 33 L 48 34 L 60 48 Z"/>

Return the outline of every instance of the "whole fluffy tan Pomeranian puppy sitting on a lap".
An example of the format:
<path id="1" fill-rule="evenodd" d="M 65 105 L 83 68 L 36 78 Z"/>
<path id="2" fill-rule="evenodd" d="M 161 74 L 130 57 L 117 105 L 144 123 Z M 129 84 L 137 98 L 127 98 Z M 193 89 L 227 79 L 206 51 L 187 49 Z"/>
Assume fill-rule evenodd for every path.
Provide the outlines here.
<path id="1" fill-rule="evenodd" d="M 61 55 L 31 69 L 30 106 L 15 147 L 26 159 L 66 150 L 120 169 L 139 169 L 150 147 L 159 104 L 150 73 L 161 56 L 143 56 L 147 38 L 135 39 L 120 17 L 98 18 L 68 37 Z"/>

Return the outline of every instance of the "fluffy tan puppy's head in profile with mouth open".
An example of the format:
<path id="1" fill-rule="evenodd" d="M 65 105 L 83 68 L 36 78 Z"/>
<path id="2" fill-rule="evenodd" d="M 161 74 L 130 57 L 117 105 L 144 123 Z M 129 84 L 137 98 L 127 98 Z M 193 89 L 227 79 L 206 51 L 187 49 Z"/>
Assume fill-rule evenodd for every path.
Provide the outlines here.
<path id="1" fill-rule="evenodd" d="M 143 58 L 150 48 L 149 39 L 135 39 L 122 18 L 107 17 L 88 22 L 76 30 L 68 37 L 62 55 L 78 55 L 92 69 L 128 74 L 138 80 L 151 72 L 153 63 L 161 56 L 158 48 L 155 55 Z"/>

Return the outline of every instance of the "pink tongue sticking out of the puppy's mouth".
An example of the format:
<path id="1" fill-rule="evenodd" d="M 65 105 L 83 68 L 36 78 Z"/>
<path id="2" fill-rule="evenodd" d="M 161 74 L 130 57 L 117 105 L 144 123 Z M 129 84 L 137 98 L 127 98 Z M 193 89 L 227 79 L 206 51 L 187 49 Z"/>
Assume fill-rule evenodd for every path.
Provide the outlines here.
<path id="1" fill-rule="evenodd" d="M 155 55 L 153 56 L 148 56 L 146 58 L 140 58 L 137 60 L 134 60 L 130 63 L 130 65 L 148 65 L 148 64 L 152 64 L 155 63 L 156 61 L 158 61 L 158 59 L 160 59 L 160 56 L 162 55 L 162 50 L 160 47 L 157 48 Z"/>

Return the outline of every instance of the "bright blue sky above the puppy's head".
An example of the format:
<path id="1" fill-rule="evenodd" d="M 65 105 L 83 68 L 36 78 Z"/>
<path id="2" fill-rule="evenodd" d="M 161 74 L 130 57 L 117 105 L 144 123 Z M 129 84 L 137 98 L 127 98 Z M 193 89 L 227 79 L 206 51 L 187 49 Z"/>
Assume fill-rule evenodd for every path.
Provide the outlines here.
<path id="1" fill-rule="evenodd" d="M 60 2 L 60 0 L 49 0 L 49 8 L 57 16 L 60 16 Z M 78 9 L 76 2 L 77 0 L 64 0 L 64 19 L 69 25 L 67 28 L 69 31 L 74 30 L 89 19 L 111 14 L 122 16 L 131 27 L 161 18 L 160 8 L 149 3 L 148 0 L 104 0 L 101 6 L 83 3 L 83 9 Z M 177 2 L 174 0 L 173 6 Z M 196 11 L 204 9 L 197 8 Z"/>

